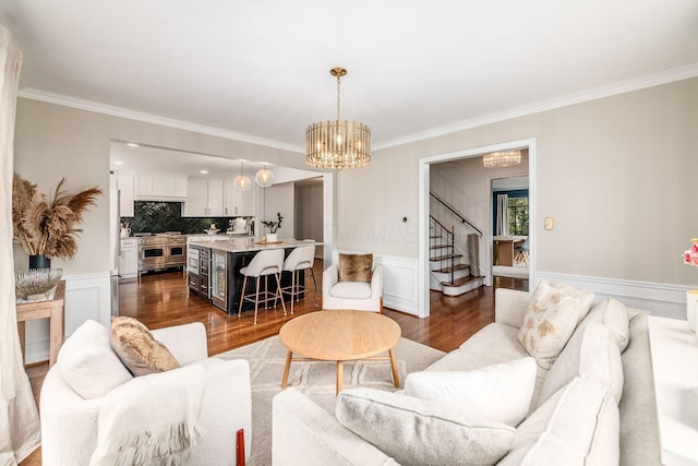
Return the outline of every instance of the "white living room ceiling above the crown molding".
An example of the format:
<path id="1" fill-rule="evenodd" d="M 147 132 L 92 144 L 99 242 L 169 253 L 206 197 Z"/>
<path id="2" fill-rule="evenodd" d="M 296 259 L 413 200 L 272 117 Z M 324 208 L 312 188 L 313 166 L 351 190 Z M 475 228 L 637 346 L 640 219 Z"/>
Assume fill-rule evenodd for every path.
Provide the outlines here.
<path id="1" fill-rule="evenodd" d="M 27 97 L 98 104 L 302 152 L 375 147 L 698 75 L 696 0 L 2 0 Z"/>

